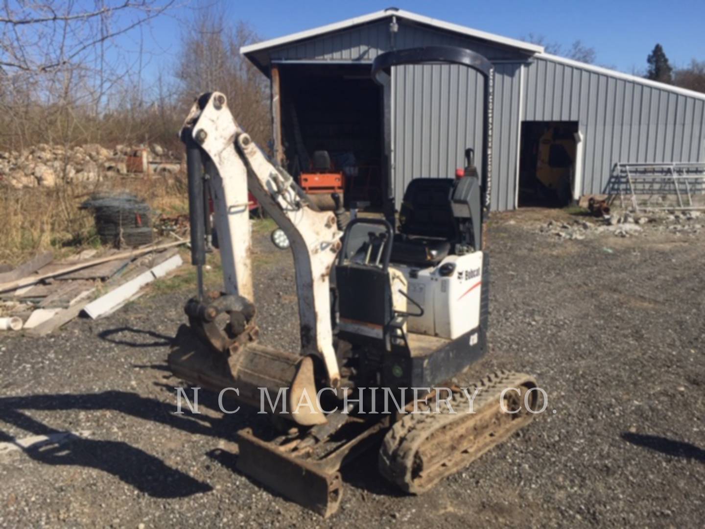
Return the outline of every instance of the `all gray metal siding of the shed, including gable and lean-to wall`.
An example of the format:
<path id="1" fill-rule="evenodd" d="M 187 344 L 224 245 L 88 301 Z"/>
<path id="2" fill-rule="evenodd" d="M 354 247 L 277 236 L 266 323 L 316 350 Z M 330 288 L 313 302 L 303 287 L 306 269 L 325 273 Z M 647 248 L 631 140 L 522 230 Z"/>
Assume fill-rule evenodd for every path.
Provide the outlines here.
<path id="1" fill-rule="evenodd" d="M 263 51 L 273 60 L 372 61 L 390 49 L 389 20 Z M 615 162 L 705 161 L 705 102 L 453 32 L 399 20 L 396 47 L 462 46 L 496 63 L 492 208 L 515 200 L 521 121 L 578 121 L 582 193 L 601 193 Z M 521 72 L 523 66 L 523 95 Z M 482 78 L 460 66 L 405 66 L 393 79 L 396 195 L 411 178 L 453 176 L 465 147 L 482 160 Z"/>

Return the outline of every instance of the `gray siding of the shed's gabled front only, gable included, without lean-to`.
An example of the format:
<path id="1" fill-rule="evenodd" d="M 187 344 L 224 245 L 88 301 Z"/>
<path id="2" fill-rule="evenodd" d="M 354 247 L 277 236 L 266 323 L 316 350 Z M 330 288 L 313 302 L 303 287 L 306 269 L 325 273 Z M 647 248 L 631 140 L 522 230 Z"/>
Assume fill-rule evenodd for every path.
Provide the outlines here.
<path id="1" fill-rule="evenodd" d="M 275 60 L 372 61 L 389 49 L 389 21 L 350 28 L 271 51 Z M 447 45 L 493 60 L 525 61 L 515 49 L 399 21 L 396 48 Z M 520 66 L 495 73 L 493 209 L 514 207 Z M 394 71 L 393 174 L 397 205 L 412 178 L 452 178 L 466 147 L 482 163 L 482 76 L 462 66 L 401 66 Z M 478 167 L 478 169 L 482 169 Z"/>

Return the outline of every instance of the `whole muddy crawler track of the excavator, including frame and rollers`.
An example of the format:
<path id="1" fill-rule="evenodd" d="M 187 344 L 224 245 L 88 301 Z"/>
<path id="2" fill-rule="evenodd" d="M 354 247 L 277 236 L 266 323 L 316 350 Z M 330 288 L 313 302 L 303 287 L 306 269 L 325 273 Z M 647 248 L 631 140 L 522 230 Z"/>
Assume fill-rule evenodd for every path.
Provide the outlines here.
<path id="1" fill-rule="evenodd" d="M 450 405 L 439 401 L 439 413 L 433 413 L 436 403 L 429 401 L 420 413 L 407 413 L 398 420 L 384 438 L 379 451 L 379 470 L 385 478 L 411 494 L 427 492 L 437 482 L 468 466 L 486 451 L 508 439 L 511 434 L 534 418 L 524 406 L 525 394 L 537 387 L 530 375 L 517 372 L 498 372 L 475 384 L 480 391 L 473 401 L 460 392 Z M 518 410 L 505 413 L 504 409 Z M 537 391 L 532 391 L 529 406 L 535 409 Z M 429 411 L 431 413 L 429 413 Z"/>

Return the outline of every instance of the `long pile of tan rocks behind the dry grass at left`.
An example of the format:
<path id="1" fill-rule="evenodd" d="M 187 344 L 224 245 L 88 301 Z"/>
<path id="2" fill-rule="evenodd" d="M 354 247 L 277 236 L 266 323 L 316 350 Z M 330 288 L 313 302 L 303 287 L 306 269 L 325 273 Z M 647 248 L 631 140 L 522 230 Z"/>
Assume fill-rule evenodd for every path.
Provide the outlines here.
<path id="1" fill-rule="evenodd" d="M 127 174 L 125 162 L 136 150 L 125 145 L 110 150 L 96 143 L 68 148 L 40 143 L 19 152 L 0 151 L 0 186 L 51 188 Z M 152 144 L 150 150 L 154 157 L 175 159 L 160 145 Z"/>

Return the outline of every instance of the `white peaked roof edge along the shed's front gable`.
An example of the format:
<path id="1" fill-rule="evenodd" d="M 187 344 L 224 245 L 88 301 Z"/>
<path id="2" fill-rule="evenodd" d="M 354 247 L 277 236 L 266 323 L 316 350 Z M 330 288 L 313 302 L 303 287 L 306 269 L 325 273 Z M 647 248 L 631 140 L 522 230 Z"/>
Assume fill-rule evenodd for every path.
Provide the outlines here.
<path id="1" fill-rule="evenodd" d="M 285 37 L 278 37 L 276 39 L 265 40 L 264 42 L 257 42 L 257 44 L 243 46 L 242 48 L 240 48 L 240 53 L 250 54 L 253 51 L 262 51 L 264 49 L 276 48 L 285 44 L 291 44 L 300 40 L 318 37 L 326 33 L 345 30 L 347 28 L 352 28 L 355 25 L 367 24 L 370 22 L 374 22 L 375 20 L 381 20 L 383 18 L 389 18 L 392 16 L 396 16 L 397 18 L 403 18 L 405 20 L 412 20 L 413 22 L 419 24 L 425 24 L 434 28 L 439 28 L 440 30 L 452 31 L 455 33 L 459 33 L 460 35 L 467 35 L 467 37 L 484 39 L 489 42 L 496 42 L 497 44 L 503 44 L 505 46 L 522 49 L 524 51 L 530 51 L 532 53 L 543 53 L 544 51 L 544 47 L 539 46 L 538 44 L 530 44 L 529 42 L 523 42 L 517 39 L 510 39 L 508 37 L 502 37 L 501 35 L 494 35 L 494 33 L 473 30 L 472 28 L 466 28 L 462 25 L 453 24 L 450 22 L 443 22 L 443 20 L 437 20 L 436 18 L 417 15 L 417 13 L 411 13 L 410 11 L 404 11 L 403 9 L 388 8 L 384 11 L 376 11 L 374 13 L 369 13 L 369 15 L 348 18 L 348 20 L 343 20 L 342 22 L 322 25 L 321 27 L 314 28 L 312 30 L 300 31 L 291 35 L 286 35 Z"/>

